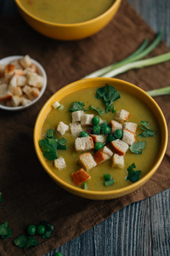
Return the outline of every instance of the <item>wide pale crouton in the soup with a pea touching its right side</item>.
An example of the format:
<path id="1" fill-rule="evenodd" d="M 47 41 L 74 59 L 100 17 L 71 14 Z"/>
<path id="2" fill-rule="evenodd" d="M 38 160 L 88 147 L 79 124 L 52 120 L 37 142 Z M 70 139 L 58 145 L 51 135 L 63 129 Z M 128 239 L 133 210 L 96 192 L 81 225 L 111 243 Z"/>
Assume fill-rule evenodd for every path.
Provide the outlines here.
<path id="1" fill-rule="evenodd" d="M 77 137 L 75 140 L 75 148 L 77 151 L 87 151 L 94 149 L 94 141 L 92 137 Z"/>

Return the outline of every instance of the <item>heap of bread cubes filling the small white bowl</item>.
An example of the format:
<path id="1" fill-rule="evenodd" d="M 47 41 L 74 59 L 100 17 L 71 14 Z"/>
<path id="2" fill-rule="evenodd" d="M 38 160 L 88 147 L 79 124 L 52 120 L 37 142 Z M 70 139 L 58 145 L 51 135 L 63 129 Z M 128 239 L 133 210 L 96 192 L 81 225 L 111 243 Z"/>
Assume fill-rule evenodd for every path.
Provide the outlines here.
<path id="1" fill-rule="evenodd" d="M 0 65 L 0 103 L 8 107 L 26 106 L 39 96 L 43 83 L 29 55 Z"/>

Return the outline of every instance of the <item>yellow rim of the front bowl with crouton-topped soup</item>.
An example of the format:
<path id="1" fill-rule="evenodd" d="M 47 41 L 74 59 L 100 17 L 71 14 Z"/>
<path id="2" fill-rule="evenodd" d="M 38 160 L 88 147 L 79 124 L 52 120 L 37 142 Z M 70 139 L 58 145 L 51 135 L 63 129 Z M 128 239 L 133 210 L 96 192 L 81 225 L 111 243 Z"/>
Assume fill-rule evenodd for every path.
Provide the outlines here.
<path id="1" fill-rule="evenodd" d="M 94 190 L 83 190 L 83 189 L 80 189 L 79 187 L 75 187 L 69 183 L 66 183 L 64 180 L 60 179 L 59 177 L 57 177 L 54 172 L 52 172 L 50 170 L 50 168 L 48 167 L 48 165 L 45 163 L 45 160 L 43 159 L 43 155 L 42 155 L 42 151 L 41 149 L 39 148 L 39 145 L 38 145 L 38 140 L 37 140 L 37 126 L 38 126 L 38 121 L 39 119 L 41 119 L 41 115 L 43 113 L 43 111 L 48 107 L 48 104 L 51 104 L 52 105 L 52 101 L 53 101 L 53 98 L 56 97 L 56 95 L 58 94 L 62 94 L 64 92 L 64 90 L 67 90 L 67 89 L 71 89 L 71 87 L 75 87 L 77 84 L 83 84 L 83 83 L 86 83 L 86 81 L 94 81 L 94 80 L 105 80 L 105 84 L 106 83 L 109 83 L 109 81 L 112 81 L 112 82 L 115 82 L 115 83 L 119 83 L 119 84 L 127 84 L 127 86 L 130 86 L 131 88 L 133 88 L 133 90 L 138 90 L 139 93 L 142 93 L 145 98 L 147 100 L 149 100 L 151 102 L 151 104 L 153 104 L 152 106 L 154 106 L 156 108 L 156 111 L 160 114 L 160 118 L 162 120 L 162 125 L 160 126 L 160 129 L 163 130 L 163 132 L 161 131 L 161 137 L 162 137 L 162 133 L 164 134 L 164 140 L 161 139 L 161 146 L 160 146 L 160 150 L 159 150 L 159 153 L 158 153 L 158 160 L 156 160 L 156 163 L 154 164 L 154 166 L 151 168 L 150 172 L 148 172 L 147 174 L 144 175 L 144 177 L 140 178 L 138 182 L 136 183 L 132 183 L 130 185 L 128 185 L 127 187 L 123 187 L 121 189 L 113 189 L 113 190 L 109 190 L 109 191 L 94 191 Z M 94 87 L 94 86 L 87 86 L 87 87 Z M 79 90 L 81 90 L 82 88 L 87 88 L 87 87 L 81 87 L 79 88 Z M 95 86 L 97 87 L 97 86 Z M 122 89 L 121 89 L 122 90 Z M 125 90 L 126 91 L 126 90 Z M 64 98 L 65 96 L 61 97 L 61 98 Z M 147 104 L 147 106 L 149 107 L 149 105 Z M 151 110 L 153 112 L 153 110 Z M 48 110 L 48 113 L 49 113 L 49 110 Z M 48 114 L 46 113 L 46 115 Z M 43 123 L 43 121 L 42 121 Z M 42 127 L 42 124 L 41 124 L 41 127 Z M 41 129 L 40 129 L 41 130 Z M 129 194 L 128 191 L 132 191 L 132 189 L 138 189 L 141 185 L 143 185 L 146 181 L 148 181 L 150 179 L 150 177 L 153 176 L 153 174 L 156 172 L 157 168 L 161 165 L 161 161 L 163 160 L 164 158 L 164 155 L 166 153 L 166 150 L 167 150 L 167 140 L 168 140 L 168 132 L 167 132 L 167 122 L 166 122 L 166 119 L 164 117 L 164 114 L 162 113 L 161 111 L 161 108 L 159 107 L 159 105 L 156 103 L 156 101 L 149 95 L 147 94 L 144 90 L 142 90 L 141 88 L 139 88 L 137 85 L 134 85 L 134 84 L 131 84 L 127 81 L 124 81 L 122 79 L 110 79 L 110 78 L 93 78 L 93 79 L 82 79 L 82 80 L 77 80 L 71 84 L 67 84 L 65 85 L 63 88 L 61 88 L 60 90 L 56 91 L 54 93 L 53 96 L 51 96 L 48 101 L 43 105 L 42 109 L 40 110 L 40 112 L 38 113 L 37 115 L 37 120 L 36 120 L 36 123 L 35 123 L 35 126 L 34 126 L 34 134 L 33 134 L 33 140 L 34 140 L 34 147 L 35 147 L 35 150 L 36 150 L 36 153 L 37 153 L 37 157 L 40 161 L 40 163 L 42 164 L 44 170 L 46 172 L 48 172 L 48 175 L 50 177 L 52 177 L 54 179 L 54 181 L 56 183 L 58 183 L 59 185 L 61 185 L 63 188 L 65 188 L 66 190 L 69 190 L 70 192 L 74 191 L 73 194 L 76 194 L 76 195 L 80 195 L 80 196 L 83 196 L 86 197 L 86 195 L 95 195 L 95 196 L 105 196 L 105 195 L 116 195 L 116 194 L 123 194 L 126 192 L 125 195 Z"/>

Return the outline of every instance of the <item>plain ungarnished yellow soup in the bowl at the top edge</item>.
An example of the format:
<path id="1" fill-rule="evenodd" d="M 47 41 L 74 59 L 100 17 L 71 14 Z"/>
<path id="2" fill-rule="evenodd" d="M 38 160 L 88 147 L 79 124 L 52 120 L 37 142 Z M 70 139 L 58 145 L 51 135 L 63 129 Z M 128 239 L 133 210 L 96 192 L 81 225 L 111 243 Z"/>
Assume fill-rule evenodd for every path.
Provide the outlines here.
<path id="1" fill-rule="evenodd" d="M 114 2 L 115 0 L 20 0 L 31 15 L 61 24 L 92 20 L 110 9 Z"/>

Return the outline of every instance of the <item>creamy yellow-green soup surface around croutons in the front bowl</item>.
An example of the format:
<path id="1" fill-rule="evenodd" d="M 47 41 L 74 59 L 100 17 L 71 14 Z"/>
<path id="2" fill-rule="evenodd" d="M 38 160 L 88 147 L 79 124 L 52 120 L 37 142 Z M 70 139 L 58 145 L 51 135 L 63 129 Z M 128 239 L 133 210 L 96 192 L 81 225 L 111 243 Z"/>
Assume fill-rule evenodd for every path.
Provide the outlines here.
<path id="1" fill-rule="evenodd" d="M 156 118 L 151 113 L 150 108 L 148 108 L 143 102 L 141 102 L 137 97 L 127 94 L 124 91 L 119 90 L 120 99 L 117 99 L 114 102 L 114 106 L 116 111 L 121 109 L 125 109 L 130 113 L 129 122 L 136 123 L 140 125 L 140 121 L 149 121 L 150 130 L 155 131 L 154 137 L 138 137 L 139 133 L 142 132 L 140 128 L 136 131 L 136 141 L 145 141 L 146 146 L 142 150 L 142 154 L 133 154 L 129 149 L 124 157 L 125 166 L 122 169 L 113 168 L 112 167 L 112 159 L 106 160 L 104 163 L 101 163 L 99 166 L 95 166 L 91 169 L 88 174 L 90 175 L 90 179 L 87 181 L 88 190 L 96 190 L 96 191 L 107 191 L 113 189 L 121 189 L 122 187 L 126 187 L 132 184 L 131 181 L 126 179 L 127 177 L 127 167 L 132 165 L 133 163 L 136 165 L 134 171 L 141 171 L 141 177 L 150 171 L 152 166 L 154 166 L 156 162 L 156 157 L 158 155 L 160 145 L 161 145 L 161 133 L 159 126 L 156 122 Z M 42 135 L 44 138 L 48 129 L 54 128 L 56 131 L 57 125 L 59 125 L 59 121 L 63 121 L 65 124 L 69 125 L 71 123 L 71 112 L 69 108 L 71 108 L 72 102 L 84 102 L 85 109 L 88 109 L 89 105 L 93 105 L 96 108 L 101 110 L 105 109 L 105 105 L 101 100 L 98 100 L 95 97 L 96 88 L 92 89 L 82 89 L 77 92 L 73 92 L 68 96 L 65 96 L 59 103 L 64 106 L 62 110 L 52 108 L 48 113 L 46 119 L 42 125 Z M 94 113 L 94 115 L 98 115 L 94 110 L 90 110 L 86 113 Z M 108 124 L 110 124 L 111 120 L 114 119 L 115 113 L 104 113 L 101 119 L 105 120 Z M 86 130 L 86 129 L 84 129 Z M 67 140 L 67 149 L 66 150 L 58 150 L 58 157 L 63 156 L 66 162 L 66 168 L 63 170 L 57 170 L 54 167 L 54 161 L 47 161 L 48 166 L 52 169 L 52 171 L 66 183 L 71 184 L 72 186 L 77 187 L 75 183 L 72 182 L 71 172 L 77 172 L 82 166 L 78 163 L 78 156 L 83 152 L 77 152 L 75 150 L 75 137 L 71 137 L 70 132 L 66 132 L 65 137 Z M 61 138 L 59 137 L 59 138 Z M 110 144 L 106 144 L 107 147 L 111 148 Z M 94 155 L 94 150 L 89 151 Z M 115 183 L 111 186 L 105 187 L 104 174 L 111 174 L 111 177 L 115 179 Z M 79 188 L 83 188 L 82 184 L 79 185 Z"/>

